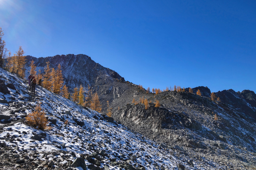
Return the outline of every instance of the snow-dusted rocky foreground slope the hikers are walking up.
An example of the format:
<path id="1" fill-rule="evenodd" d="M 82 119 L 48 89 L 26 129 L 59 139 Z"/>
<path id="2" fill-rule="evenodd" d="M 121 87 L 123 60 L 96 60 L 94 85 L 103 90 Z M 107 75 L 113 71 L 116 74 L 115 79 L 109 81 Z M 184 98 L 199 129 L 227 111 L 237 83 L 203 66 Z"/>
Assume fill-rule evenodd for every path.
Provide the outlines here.
<path id="1" fill-rule="evenodd" d="M 0 77 L 3 92 L 0 93 L 0 167 L 3 169 L 222 167 L 203 158 L 198 160 L 185 151 L 177 154 L 164 143 L 159 146 L 109 117 L 82 108 L 40 86 L 37 86 L 36 96 L 31 96 L 24 80 L 3 69 L 0 69 Z M 24 120 L 38 103 L 45 109 L 53 127 L 48 132 L 30 127 Z"/>

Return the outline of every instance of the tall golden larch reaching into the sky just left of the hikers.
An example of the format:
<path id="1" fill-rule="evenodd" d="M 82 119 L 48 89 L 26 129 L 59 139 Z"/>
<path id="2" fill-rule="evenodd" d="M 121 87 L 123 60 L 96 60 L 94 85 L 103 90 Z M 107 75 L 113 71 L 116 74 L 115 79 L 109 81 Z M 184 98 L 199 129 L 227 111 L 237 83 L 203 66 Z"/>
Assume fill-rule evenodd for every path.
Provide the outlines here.
<path id="1" fill-rule="evenodd" d="M 18 74 L 20 77 L 23 77 L 23 74 L 25 73 L 25 52 L 22 49 L 22 46 L 19 46 L 18 51 L 16 51 L 16 57 L 17 57 L 17 70 L 16 74 Z"/>

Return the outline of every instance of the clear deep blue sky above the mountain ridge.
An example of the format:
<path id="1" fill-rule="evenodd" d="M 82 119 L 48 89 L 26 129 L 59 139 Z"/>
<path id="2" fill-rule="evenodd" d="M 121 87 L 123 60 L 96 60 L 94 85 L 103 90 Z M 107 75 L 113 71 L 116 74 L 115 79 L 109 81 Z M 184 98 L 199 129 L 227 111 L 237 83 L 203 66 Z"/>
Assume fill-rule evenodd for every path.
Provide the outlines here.
<path id="1" fill-rule="evenodd" d="M 256 1 L 0 0 L 14 53 L 86 54 L 144 88 L 256 92 Z"/>

